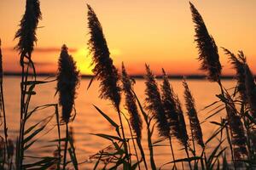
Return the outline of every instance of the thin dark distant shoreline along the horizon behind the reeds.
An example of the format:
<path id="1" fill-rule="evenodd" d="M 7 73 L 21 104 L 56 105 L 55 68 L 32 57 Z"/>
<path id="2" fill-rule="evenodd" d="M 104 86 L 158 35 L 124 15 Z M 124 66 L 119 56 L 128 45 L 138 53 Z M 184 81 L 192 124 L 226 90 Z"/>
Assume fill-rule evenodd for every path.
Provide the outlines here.
<path id="1" fill-rule="evenodd" d="M 5 77 L 20 77 L 21 73 L 20 72 L 4 72 L 3 76 Z M 29 73 L 29 76 L 32 76 L 31 73 Z M 38 77 L 55 77 L 54 73 L 37 73 Z M 82 75 L 81 76 L 83 79 L 86 78 L 92 78 L 92 75 Z M 136 79 L 143 79 L 143 75 L 131 75 L 132 78 L 136 78 Z M 168 75 L 169 78 L 171 79 L 183 79 L 183 77 L 186 77 L 186 79 L 189 80 L 203 80 L 206 79 L 206 76 L 204 75 Z M 161 76 L 156 76 L 156 78 L 161 78 Z M 222 76 L 221 79 L 225 79 L 225 80 L 230 80 L 230 79 L 234 79 L 234 76 L 228 75 L 228 76 Z"/>

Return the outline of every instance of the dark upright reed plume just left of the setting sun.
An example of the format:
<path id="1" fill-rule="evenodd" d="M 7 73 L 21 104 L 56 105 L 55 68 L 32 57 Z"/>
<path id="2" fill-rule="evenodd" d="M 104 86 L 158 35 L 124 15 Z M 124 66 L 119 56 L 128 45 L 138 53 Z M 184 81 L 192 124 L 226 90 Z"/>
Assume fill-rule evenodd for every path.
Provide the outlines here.
<path id="1" fill-rule="evenodd" d="M 68 54 L 67 46 L 61 48 L 58 61 L 57 91 L 59 104 L 62 107 L 62 119 L 69 122 L 74 105 L 76 88 L 79 85 L 79 71 L 73 57 Z"/>

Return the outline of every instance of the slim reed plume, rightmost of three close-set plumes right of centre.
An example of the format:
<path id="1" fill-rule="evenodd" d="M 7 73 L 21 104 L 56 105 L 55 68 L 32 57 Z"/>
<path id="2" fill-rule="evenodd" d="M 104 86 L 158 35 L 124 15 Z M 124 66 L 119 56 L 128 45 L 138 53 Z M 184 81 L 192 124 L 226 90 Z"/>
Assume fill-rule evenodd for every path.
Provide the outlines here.
<path id="1" fill-rule="evenodd" d="M 205 147 L 203 136 L 201 132 L 201 125 L 198 120 L 197 111 L 195 110 L 195 99 L 189 90 L 189 85 L 186 80 L 183 80 L 184 90 L 184 99 L 187 109 L 187 115 L 189 116 L 190 128 L 192 132 L 193 139 L 195 138 L 196 142 L 201 145 L 202 148 Z"/>

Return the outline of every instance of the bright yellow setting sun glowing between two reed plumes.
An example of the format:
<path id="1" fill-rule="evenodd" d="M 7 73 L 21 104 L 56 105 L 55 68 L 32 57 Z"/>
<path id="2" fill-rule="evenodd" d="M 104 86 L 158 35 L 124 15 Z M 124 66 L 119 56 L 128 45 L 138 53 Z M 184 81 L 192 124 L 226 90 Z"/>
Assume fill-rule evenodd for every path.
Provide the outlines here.
<path id="1" fill-rule="evenodd" d="M 79 48 L 74 54 L 74 59 L 77 61 L 77 66 L 82 75 L 92 75 L 91 56 L 86 48 Z"/>

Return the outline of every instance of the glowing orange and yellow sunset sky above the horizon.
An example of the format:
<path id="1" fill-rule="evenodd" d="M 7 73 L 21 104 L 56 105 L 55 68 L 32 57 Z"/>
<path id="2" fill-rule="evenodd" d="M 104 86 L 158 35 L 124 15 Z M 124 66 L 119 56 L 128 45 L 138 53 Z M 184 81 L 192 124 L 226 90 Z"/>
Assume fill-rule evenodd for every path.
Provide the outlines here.
<path id="1" fill-rule="evenodd" d="M 102 23 L 114 64 L 124 61 L 131 74 L 143 74 L 148 63 L 155 74 L 164 67 L 169 74 L 201 74 L 198 70 L 194 24 L 187 0 L 41 0 L 43 20 L 32 59 L 41 72 L 55 72 L 61 45 L 77 61 L 82 74 L 91 74 L 87 41 L 87 8 L 94 8 Z M 256 72 L 256 1 L 191 1 L 201 13 L 218 45 L 224 74 L 232 74 L 227 56 L 242 49 Z M 13 50 L 15 32 L 25 11 L 26 0 L 0 1 L 0 37 L 4 71 L 20 71 Z"/>

